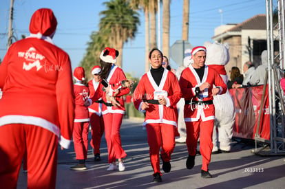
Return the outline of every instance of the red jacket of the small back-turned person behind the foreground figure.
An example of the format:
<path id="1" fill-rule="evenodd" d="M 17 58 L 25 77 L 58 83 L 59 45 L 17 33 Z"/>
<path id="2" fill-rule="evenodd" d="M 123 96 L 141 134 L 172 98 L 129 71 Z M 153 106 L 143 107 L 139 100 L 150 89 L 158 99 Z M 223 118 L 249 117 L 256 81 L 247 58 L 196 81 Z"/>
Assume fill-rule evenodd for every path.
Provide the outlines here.
<path id="1" fill-rule="evenodd" d="M 84 106 L 89 96 L 89 89 L 86 85 L 76 82 L 74 84 L 75 109 L 74 122 L 89 122 L 89 111 Z"/>

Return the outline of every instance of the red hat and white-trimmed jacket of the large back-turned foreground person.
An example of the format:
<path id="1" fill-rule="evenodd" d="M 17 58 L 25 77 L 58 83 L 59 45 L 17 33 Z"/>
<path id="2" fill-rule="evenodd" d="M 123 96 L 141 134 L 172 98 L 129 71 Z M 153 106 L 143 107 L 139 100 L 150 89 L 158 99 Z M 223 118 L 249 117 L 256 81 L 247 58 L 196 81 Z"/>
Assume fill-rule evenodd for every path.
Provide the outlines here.
<path id="1" fill-rule="evenodd" d="M 41 11 L 35 14 L 30 23 L 31 37 L 13 43 L 0 65 L 0 126 L 41 126 L 68 148 L 74 121 L 70 58 L 52 44 L 51 38 L 36 35 L 54 32 L 54 16 Z"/>

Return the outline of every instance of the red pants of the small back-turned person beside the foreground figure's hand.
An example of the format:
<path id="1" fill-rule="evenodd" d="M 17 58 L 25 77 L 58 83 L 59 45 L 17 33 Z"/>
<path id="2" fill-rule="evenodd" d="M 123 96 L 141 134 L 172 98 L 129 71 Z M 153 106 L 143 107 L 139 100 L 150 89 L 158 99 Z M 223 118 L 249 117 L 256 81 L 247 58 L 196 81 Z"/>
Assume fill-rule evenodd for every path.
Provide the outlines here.
<path id="1" fill-rule="evenodd" d="M 89 122 L 74 122 L 73 143 L 76 159 L 87 159 Z"/>

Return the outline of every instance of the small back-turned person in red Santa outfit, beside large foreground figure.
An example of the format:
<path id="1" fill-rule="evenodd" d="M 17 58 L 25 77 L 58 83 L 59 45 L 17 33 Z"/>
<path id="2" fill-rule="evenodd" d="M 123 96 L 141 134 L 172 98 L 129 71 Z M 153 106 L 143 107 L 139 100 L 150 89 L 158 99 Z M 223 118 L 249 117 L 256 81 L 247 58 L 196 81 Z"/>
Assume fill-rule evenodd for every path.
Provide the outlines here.
<path id="1" fill-rule="evenodd" d="M 74 109 L 74 129 L 72 133 L 74 151 L 78 164 L 70 167 L 71 170 L 85 170 L 85 159 L 88 151 L 89 132 L 89 111 L 85 101 L 89 96 L 88 87 L 83 84 L 85 81 L 85 70 L 83 67 L 76 67 L 73 72 L 76 80 L 74 84 L 75 109 Z"/>

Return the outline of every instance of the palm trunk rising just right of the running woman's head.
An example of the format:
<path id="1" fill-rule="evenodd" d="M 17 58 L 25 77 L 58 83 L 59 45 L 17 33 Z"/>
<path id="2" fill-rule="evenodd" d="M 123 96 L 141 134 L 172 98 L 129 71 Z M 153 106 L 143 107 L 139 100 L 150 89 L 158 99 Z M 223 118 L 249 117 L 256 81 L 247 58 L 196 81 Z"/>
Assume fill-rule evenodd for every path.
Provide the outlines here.
<path id="1" fill-rule="evenodd" d="M 162 52 L 169 58 L 170 0 L 163 0 Z"/>

